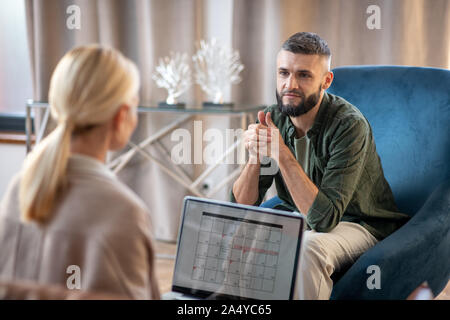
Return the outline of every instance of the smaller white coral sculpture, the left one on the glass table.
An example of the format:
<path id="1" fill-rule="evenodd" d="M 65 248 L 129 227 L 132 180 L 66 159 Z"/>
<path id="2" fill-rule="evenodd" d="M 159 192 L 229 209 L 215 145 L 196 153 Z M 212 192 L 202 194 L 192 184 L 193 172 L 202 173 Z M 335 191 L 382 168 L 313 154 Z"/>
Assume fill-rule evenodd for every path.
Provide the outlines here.
<path id="1" fill-rule="evenodd" d="M 167 89 L 167 104 L 177 104 L 177 98 L 192 84 L 191 68 L 186 53 L 170 53 L 169 57 L 159 59 L 159 65 L 152 78 L 159 88 Z"/>

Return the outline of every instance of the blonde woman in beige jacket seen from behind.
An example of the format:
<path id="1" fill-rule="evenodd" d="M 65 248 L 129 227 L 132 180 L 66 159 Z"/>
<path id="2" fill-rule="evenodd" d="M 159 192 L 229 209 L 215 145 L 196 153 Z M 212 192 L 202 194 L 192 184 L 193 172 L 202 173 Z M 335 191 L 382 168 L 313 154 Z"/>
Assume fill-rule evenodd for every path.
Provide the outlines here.
<path id="1" fill-rule="evenodd" d="M 136 66 L 113 49 L 76 48 L 58 63 L 57 127 L 0 204 L 0 280 L 159 298 L 147 209 L 104 165 L 136 127 L 138 89 Z"/>

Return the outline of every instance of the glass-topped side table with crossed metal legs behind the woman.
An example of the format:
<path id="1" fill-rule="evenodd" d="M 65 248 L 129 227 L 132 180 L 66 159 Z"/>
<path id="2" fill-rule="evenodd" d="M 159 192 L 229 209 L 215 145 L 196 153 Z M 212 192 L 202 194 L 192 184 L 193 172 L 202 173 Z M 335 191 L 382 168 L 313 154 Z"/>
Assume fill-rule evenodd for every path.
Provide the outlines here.
<path id="1" fill-rule="evenodd" d="M 209 165 L 201 174 L 193 180 L 189 177 L 179 166 L 174 164 L 171 160 L 170 154 L 167 149 L 164 148 L 161 140 L 174 130 L 180 127 L 183 123 L 188 121 L 192 121 L 193 117 L 196 115 L 201 116 L 226 116 L 226 117 L 237 117 L 240 118 L 240 127 L 242 130 L 246 130 L 249 123 L 255 122 L 255 114 L 263 110 L 265 108 L 264 105 L 261 106 L 249 106 L 249 105 L 235 105 L 232 107 L 225 106 L 186 106 L 185 108 L 179 107 L 158 107 L 151 104 L 143 104 L 138 107 L 139 114 L 148 114 L 148 113 L 164 113 L 164 114 L 174 114 L 176 115 L 176 119 L 159 129 L 154 134 L 145 137 L 142 141 L 134 143 L 130 141 L 128 146 L 130 149 L 118 157 L 112 159 L 107 163 L 107 166 L 114 172 L 118 173 L 125 165 L 135 156 L 137 153 L 141 154 L 144 158 L 149 161 L 156 163 L 164 172 L 166 172 L 174 181 L 179 183 L 188 189 L 192 194 L 198 197 L 212 197 L 215 193 L 221 190 L 224 186 L 226 186 L 230 181 L 237 178 L 239 176 L 240 171 L 242 169 L 243 159 L 239 161 L 241 164 L 237 169 L 235 169 L 230 175 L 227 176 L 226 179 L 221 181 L 217 186 L 212 188 L 209 192 L 204 193 L 199 189 L 199 185 L 202 181 L 204 181 L 225 159 L 229 154 L 238 150 L 238 148 L 242 148 L 239 153 L 241 157 L 245 157 L 244 146 L 241 144 L 241 139 L 238 138 L 236 142 L 234 142 L 231 146 L 229 146 L 225 152 L 218 157 L 218 159 L 211 165 Z M 32 113 L 36 110 L 40 109 L 43 112 L 42 119 L 40 120 L 39 131 L 35 133 L 36 135 L 36 143 L 42 140 L 44 137 L 49 118 L 50 118 L 50 108 L 48 102 L 43 101 L 34 101 L 28 100 L 26 104 L 26 120 L 25 120 L 25 132 L 26 132 L 26 147 L 27 152 L 31 151 L 31 136 L 34 134 L 32 132 Z M 163 155 L 165 157 L 164 161 L 161 161 L 155 158 L 149 151 L 145 148 L 150 145 L 155 145 L 157 148 L 162 149 Z M 169 167 L 167 164 L 172 164 Z"/>

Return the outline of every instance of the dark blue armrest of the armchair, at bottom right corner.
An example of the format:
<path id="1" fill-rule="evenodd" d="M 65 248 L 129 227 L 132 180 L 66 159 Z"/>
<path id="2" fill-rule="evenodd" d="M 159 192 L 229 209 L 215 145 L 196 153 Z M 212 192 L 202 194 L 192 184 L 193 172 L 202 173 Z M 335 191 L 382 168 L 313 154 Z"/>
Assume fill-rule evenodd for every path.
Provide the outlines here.
<path id="1" fill-rule="evenodd" d="M 380 289 L 367 280 L 378 266 Z M 333 288 L 331 299 L 406 299 L 427 281 L 436 296 L 450 277 L 450 180 L 408 223 L 364 253 Z"/>

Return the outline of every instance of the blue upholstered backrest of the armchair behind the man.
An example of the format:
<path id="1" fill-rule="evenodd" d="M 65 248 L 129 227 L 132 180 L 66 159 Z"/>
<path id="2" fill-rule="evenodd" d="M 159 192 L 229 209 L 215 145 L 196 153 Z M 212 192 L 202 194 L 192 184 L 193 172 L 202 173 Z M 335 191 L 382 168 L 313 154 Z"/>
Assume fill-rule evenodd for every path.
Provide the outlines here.
<path id="1" fill-rule="evenodd" d="M 351 66 L 333 73 L 328 92 L 367 118 L 397 206 L 414 215 L 450 177 L 450 71 Z"/>

